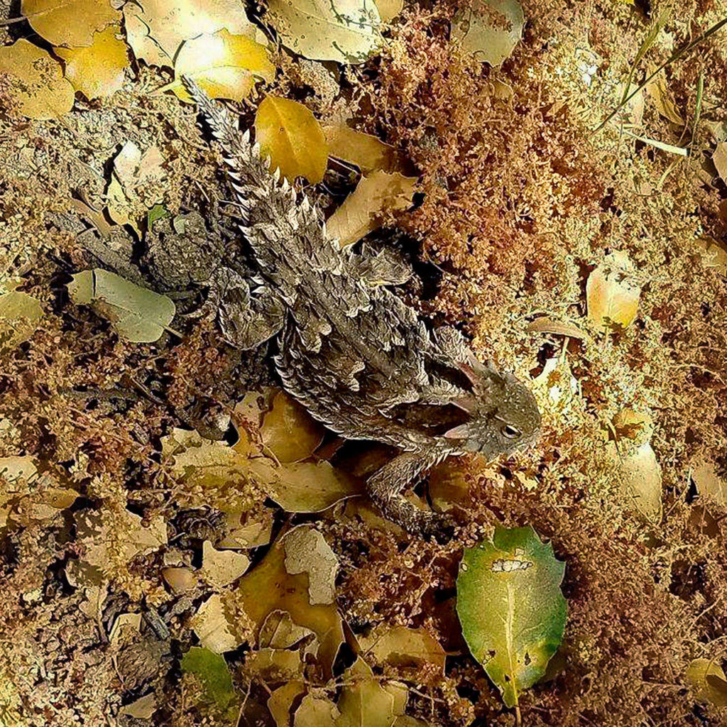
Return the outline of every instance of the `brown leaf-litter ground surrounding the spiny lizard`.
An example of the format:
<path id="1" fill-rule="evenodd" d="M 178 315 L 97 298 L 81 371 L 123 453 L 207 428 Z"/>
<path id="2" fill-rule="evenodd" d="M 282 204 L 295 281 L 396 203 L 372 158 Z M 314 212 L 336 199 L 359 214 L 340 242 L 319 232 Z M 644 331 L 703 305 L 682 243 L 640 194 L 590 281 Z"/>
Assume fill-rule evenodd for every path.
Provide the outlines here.
<path id="1" fill-rule="evenodd" d="M 137 6 L 124 9 L 124 28 L 137 58 L 171 67 L 190 20 L 165 19 L 158 5 L 158 15 L 145 10 L 164 44 L 150 44 Z M 103 28 L 119 12 L 92 16 L 97 27 L 82 39 L 51 13 L 33 30 L 3 26 L 4 45 L 27 56 L 25 82 L 49 89 L 33 105 L 0 77 L 0 310 L 11 323 L 0 337 L 10 480 L 0 497 L 0 714 L 9 723 L 230 724 L 242 712 L 266 725 L 292 723 L 293 713 L 302 725 L 512 724 L 467 650 L 455 579 L 463 548 L 496 526 L 528 525 L 566 563 L 569 621 L 545 679 L 520 697 L 523 720 L 723 723 L 725 40 L 670 65 L 593 134 L 624 96 L 660 9 L 651 18 L 628 4 L 523 10 L 523 40 L 499 68 L 451 44 L 462 9 L 408 5 L 380 60 L 341 72 L 283 52 L 282 73 L 265 87 L 305 104 L 325 129 L 352 121 L 413 165 L 416 209 L 395 214 L 402 205 L 390 200 L 368 226 L 359 203 L 339 214 L 341 227 L 356 237 L 395 224 L 393 243 L 423 261 L 402 294 L 533 382 L 545 422 L 535 449 L 489 465 L 446 462 L 412 494 L 462 523 L 444 547 L 410 541 L 353 497 L 389 452 L 321 440 L 267 388 L 264 357 L 230 351 L 211 321 L 186 318 L 182 337 L 131 343 L 103 311 L 73 304 L 66 284 L 97 265 L 93 251 L 118 262 L 133 240 L 105 206 L 141 230 L 163 204 L 169 218 L 150 225 L 149 239 L 169 251 L 196 210 L 211 240 L 229 241 L 227 193 L 193 112 L 153 94 L 174 82 L 170 68 L 132 65 L 117 90 L 126 61 Z M 254 26 L 236 5 L 228 12 L 234 23 L 197 33 L 252 42 Z M 644 63 L 656 67 L 696 36 L 689 23 L 704 31 L 725 12 L 680 7 Z M 94 49 L 94 31 L 108 33 L 97 41 L 104 73 L 76 88 L 100 98 L 78 96 L 69 111 L 73 77 L 25 38 Z M 220 81 L 217 66 L 200 73 Z M 246 73 L 233 74 L 243 96 Z M 260 98 L 242 107 L 245 126 Z M 670 151 L 688 146 L 687 157 Z M 114 172 L 124 148 L 135 161 Z M 356 182 L 345 161 L 329 164 L 315 192 L 330 209 Z M 368 179 L 412 174 L 360 166 Z M 181 313 L 199 307 L 174 303 Z M 204 437 L 215 406 L 233 418 L 234 448 Z M 286 542 L 299 540 L 289 555 Z M 252 563 L 242 577 L 241 557 Z"/>

